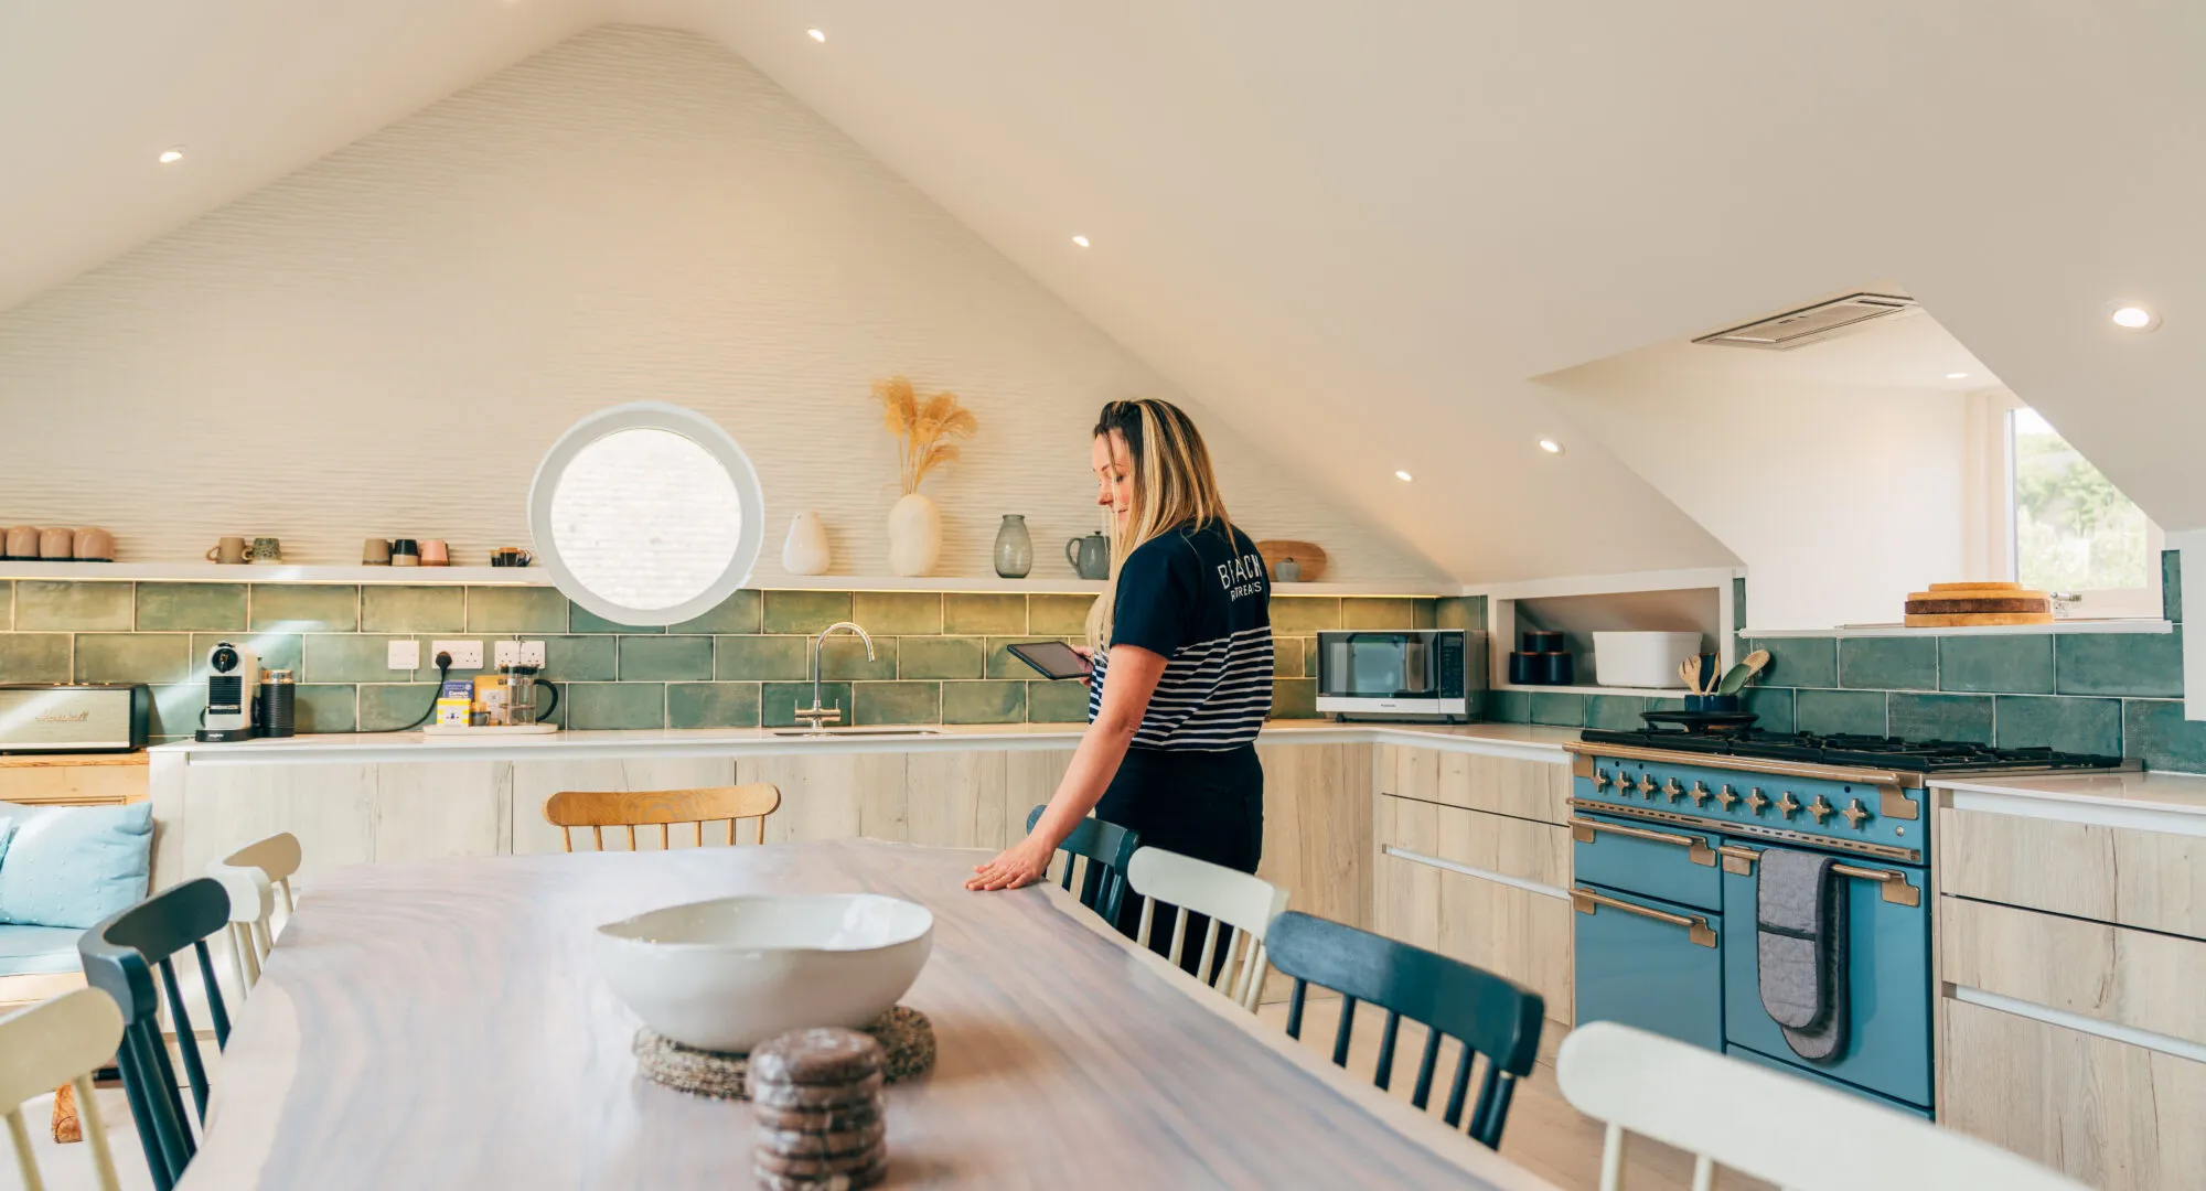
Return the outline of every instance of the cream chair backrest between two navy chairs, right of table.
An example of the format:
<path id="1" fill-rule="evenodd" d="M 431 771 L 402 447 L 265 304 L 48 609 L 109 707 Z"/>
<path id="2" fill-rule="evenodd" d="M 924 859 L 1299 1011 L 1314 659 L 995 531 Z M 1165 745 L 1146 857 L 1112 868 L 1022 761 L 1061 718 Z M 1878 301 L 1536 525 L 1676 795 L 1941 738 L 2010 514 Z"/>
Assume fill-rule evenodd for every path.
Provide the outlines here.
<path id="1" fill-rule="evenodd" d="M 1264 878 L 1160 847 L 1136 851 L 1134 860 L 1125 867 L 1125 880 L 1134 887 L 1134 893 L 1145 898 L 1141 906 L 1141 946 L 1149 946 L 1156 902 L 1180 906 L 1180 915 L 1171 929 L 1174 964 L 1180 964 L 1187 955 L 1187 913 L 1209 915 L 1211 929 L 1202 935 L 1202 962 L 1196 966 L 1196 973 L 1204 981 L 1216 973 L 1218 984 L 1213 988 L 1233 997 L 1233 1004 L 1244 1010 L 1255 1012 L 1257 995 L 1264 993 L 1264 931 L 1271 931 L 1271 920 L 1286 913 L 1286 889 Z M 1229 926 L 1231 933 L 1227 931 Z M 1222 966 L 1213 964 L 1218 935 L 1227 935 Z"/>

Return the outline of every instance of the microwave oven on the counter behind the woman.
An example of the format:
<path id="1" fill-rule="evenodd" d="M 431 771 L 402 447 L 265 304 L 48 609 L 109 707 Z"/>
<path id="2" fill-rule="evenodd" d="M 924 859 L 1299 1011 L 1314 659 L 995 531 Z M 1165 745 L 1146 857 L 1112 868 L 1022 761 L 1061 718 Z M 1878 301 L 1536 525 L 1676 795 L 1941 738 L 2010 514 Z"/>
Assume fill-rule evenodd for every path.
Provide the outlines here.
<path id="1" fill-rule="evenodd" d="M 1330 719 L 1474 719 L 1485 633 L 1463 629 L 1317 635 L 1317 710 Z M 1476 682 L 1485 686 L 1485 682 Z"/>

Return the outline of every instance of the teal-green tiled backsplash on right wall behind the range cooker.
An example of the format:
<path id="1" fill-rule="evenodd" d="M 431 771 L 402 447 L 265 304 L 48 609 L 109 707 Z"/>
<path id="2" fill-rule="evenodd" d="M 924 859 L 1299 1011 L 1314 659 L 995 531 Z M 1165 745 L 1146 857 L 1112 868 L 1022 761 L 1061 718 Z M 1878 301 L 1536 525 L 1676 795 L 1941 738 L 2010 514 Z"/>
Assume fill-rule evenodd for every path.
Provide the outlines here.
<path id="1" fill-rule="evenodd" d="M 2206 772 L 2206 721 L 2184 719 L 2184 624 L 2175 551 L 2162 560 L 2173 633 L 1994 633 L 1738 640 L 1769 651 L 1747 693 L 1758 728 L 1875 732 L 2138 757 Z M 1745 584 L 1734 584 L 1745 626 Z M 1496 690 L 1487 719 L 1566 728 L 1637 726 L 1679 699 Z"/>

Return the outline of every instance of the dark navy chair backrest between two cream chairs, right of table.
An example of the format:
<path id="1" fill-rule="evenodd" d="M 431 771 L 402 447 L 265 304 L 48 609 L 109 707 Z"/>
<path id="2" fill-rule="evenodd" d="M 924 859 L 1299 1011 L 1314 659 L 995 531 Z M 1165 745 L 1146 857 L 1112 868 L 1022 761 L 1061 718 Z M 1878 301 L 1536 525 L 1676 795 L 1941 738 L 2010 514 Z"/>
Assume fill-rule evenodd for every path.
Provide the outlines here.
<path id="1" fill-rule="evenodd" d="M 1341 995 L 1341 1023 L 1332 1032 L 1332 1063 L 1348 1065 L 1357 1001 L 1370 1001 L 1385 1010 L 1385 1032 L 1379 1034 L 1379 1074 L 1372 1079 L 1381 1090 L 1394 1079 L 1394 1039 L 1403 1017 L 1427 1028 L 1425 1054 L 1410 1096 L 1410 1103 L 1421 1109 L 1432 1098 L 1441 1037 L 1449 1034 L 1460 1041 L 1463 1054 L 1447 1092 L 1445 1120 L 1449 1127 L 1463 1123 L 1471 1065 L 1482 1054 L 1487 1074 L 1480 1079 L 1478 1101 L 1471 1105 L 1469 1134 L 1487 1147 L 1500 1145 L 1516 1081 L 1531 1074 L 1540 1059 L 1540 1023 L 1546 1001 L 1538 993 L 1460 959 L 1295 911 L 1282 913 L 1264 942 L 1271 948 L 1271 964 L 1295 977 L 1295 999 L 1286 1010 L 1291 1039 L 1302 1037 L 1302 1008 L 1310 984 Z"/>

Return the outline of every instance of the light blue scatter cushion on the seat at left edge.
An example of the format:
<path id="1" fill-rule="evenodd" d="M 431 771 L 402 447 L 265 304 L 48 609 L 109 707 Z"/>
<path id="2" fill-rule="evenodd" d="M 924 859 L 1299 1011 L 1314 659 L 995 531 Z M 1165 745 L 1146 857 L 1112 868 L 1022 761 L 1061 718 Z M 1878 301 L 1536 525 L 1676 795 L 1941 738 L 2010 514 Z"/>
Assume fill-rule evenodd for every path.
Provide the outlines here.
<path id="1" fill-rule="evenodd" d="M 146 898 L 152 803 L 0 803 L 0 814 L 15 820 L 15 838 L 0 856 L 0 922 L 84 931 Z"/>

